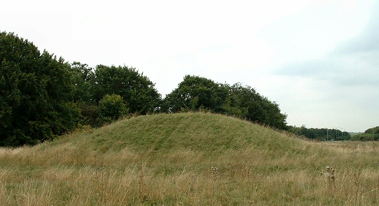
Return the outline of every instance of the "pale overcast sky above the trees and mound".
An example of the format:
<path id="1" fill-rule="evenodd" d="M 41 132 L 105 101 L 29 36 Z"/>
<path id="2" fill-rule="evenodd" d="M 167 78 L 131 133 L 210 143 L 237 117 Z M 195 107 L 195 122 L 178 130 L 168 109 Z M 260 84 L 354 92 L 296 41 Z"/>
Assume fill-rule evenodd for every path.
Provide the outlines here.
<path id="1" fill-rule="evenodd" d="M 376 11 L 376 12 L 375 12 Z M 185 75 L 240 82 L 289 125 L 379 125 L 375 0 L 4 1 L 0 30 L 92 67 L 126 65 L 165 97 Z"/>

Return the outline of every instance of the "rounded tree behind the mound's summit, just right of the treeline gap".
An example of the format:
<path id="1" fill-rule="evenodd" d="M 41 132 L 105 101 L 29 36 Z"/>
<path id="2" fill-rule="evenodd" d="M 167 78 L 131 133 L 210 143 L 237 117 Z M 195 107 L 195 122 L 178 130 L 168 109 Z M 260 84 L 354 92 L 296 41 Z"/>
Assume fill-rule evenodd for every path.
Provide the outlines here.
<path id="1" fill-rule="evenodd" d="M 212 80 L 186 75 L 178 88 L 168 94 L 162 104 L 164 112 L 198 110 L 200 107 L 222 113 L 228 91 Z"/>

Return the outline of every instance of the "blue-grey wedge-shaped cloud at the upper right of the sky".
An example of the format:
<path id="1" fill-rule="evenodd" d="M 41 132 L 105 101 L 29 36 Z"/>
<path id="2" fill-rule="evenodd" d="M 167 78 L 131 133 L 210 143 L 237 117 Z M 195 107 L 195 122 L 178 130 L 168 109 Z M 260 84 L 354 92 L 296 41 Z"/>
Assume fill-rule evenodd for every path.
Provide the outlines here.
<path id="1" fill-rule="evenodd" d="M 379 9 L 379 3 L 373 10 Z M 275 74 L 326 80 L 338 86 L 379 87 L 379 13 L 354 38 L 319 58 L 292 61 Z"/>

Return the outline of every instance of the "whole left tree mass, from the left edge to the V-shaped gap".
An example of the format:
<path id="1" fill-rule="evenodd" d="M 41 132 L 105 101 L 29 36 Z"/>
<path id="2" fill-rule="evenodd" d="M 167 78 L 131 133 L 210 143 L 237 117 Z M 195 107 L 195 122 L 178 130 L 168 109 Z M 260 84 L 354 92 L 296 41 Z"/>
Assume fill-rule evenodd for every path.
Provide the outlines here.
<path id="1" fill-rule="evenodd" d="M 79 124 L 158 111 L 161 95 L 135 68 L 69 65 L 13 33 L 0 34 L 0 146 L 35 144 Z"/>

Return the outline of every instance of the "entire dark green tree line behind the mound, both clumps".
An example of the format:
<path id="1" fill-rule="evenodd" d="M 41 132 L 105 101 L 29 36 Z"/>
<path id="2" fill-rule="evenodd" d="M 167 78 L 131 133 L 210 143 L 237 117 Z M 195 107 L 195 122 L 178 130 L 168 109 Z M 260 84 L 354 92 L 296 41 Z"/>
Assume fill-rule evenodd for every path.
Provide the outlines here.
<path id="1" fill-rule="evenodd" d="M 6 32 L 0 33 L 0 61 L 0 146 L 32 145 L 130 114 L 189 110 L 287 128 L 277 103 L 238 83 L 187 75 L 162 98 L 136 68 L 69 64 Z"/>

